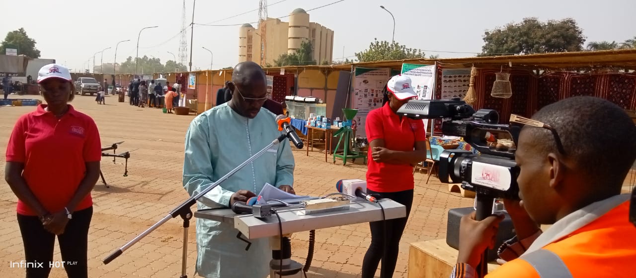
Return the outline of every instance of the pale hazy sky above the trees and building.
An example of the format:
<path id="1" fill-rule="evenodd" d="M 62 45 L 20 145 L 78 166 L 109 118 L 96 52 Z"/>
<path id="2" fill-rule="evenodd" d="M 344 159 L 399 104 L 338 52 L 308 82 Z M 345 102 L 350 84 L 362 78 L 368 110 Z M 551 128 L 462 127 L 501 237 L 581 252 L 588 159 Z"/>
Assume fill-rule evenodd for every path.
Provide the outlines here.
<path id="1" fill-rule="evenodd" d="M 295 8 L 310 10 L 338 0 L 269 0 L 268 16 L 283 17 Z M 280 2 L 280 3 L 279 3 Z M 480 52 L 481 37 L 486 29 L 524 17 L 540 20 L 572 17 L 584 31 L 587 41 L 618 41 L 636 36 L 636 1 L 634 0 L 344 0 L 309 11 L 310 21 L 334 30 L 334 59 L 354 56 L 368 47 L 373 38 L 391 41 L 391 15 L 379 6 L 384 5 L 396 17 L 395 40 L 410 48 L 420 48 L 426 54 L 440 57 L 474 56 Z M 191 22 L 193 0 L 186 0 L 186 22 Z M 237 24 L 258 20 L 258 0 L 198 0 L 195 23 Z M 53 58 L 67 67 L 78 70 L 93 65 L 93 53 L 104 52 L 104 63 L 113 62 L 114 48 L 118 62 L 135 56 L 137 35 L 146 29 L 139 40 L 139 56 L 172 60 L 170 51 L 179 53 L 183 0 L 21 0 L 3 5 L 0 17 L 0 39 L 7 32 L 24 27 L 37 41 L 41 58 Z M 245 15 L 239 15 L 245 13 Z M 232 17 L 234 15 L 239 15 Z M 232 18 L 228 18 L 232 17 Z M 228 18 L 226 20 L 221 20 Z M 221 20 L 221 21 L 218 21 Z M 288 18 L 281 18 L 286 21 Z M 216 22 L 218 21 L 218 22 Z M 254 24 L 256 27 L 256 24 Z M 190 27 L 188 27 L 188 56 L 190 55 Z M 193 69 L 208 69 L 210 53 L 214 53 L 214 69 L 233 66 L 238 60 L 239 26 L 194 27 Z M 344 54 L 343 54 L 344 47 Z M 441 52 L 434 52 L 441 51 Z M 449 53 L 449 52 L 466 53 Z M 3 53 L 4 54 L 4 53 Z M 100 55 L 95 57 L 100 64 Z"/>

